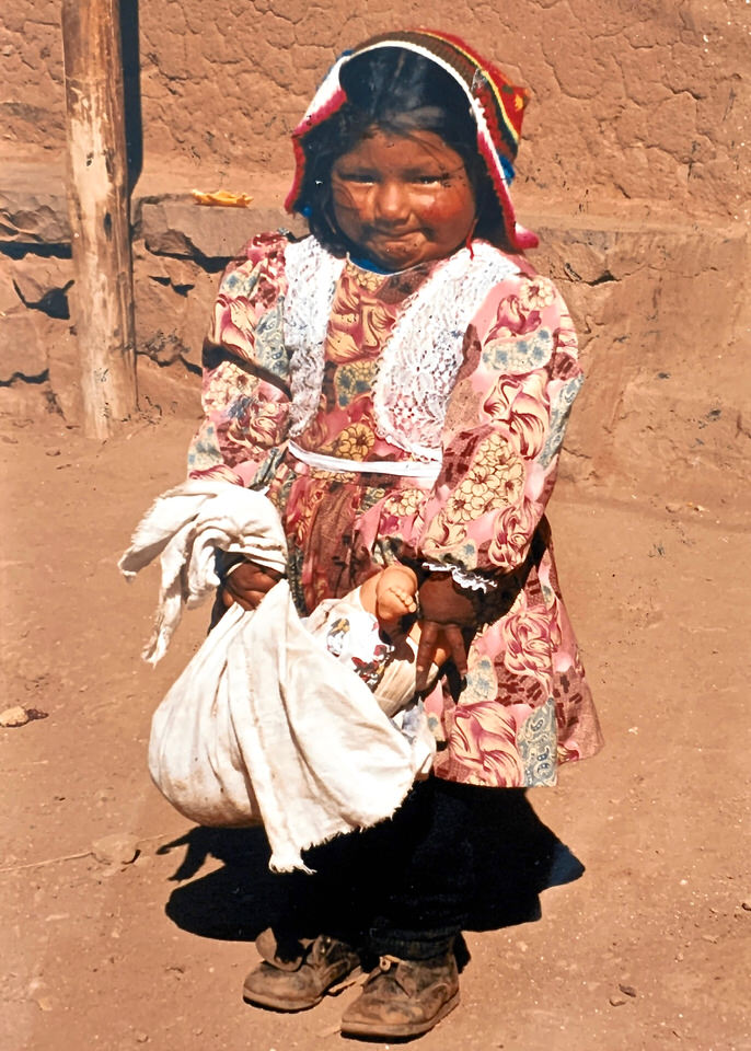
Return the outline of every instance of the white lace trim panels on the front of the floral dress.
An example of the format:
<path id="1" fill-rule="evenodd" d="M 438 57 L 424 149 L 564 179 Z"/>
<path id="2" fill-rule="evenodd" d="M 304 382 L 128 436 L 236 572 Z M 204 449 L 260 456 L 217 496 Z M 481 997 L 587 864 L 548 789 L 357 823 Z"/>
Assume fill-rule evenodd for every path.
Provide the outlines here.
<path id="1" fill-rule="evenodd" d="M 285 252 L 288 291 L 285 342 L 290 351 L 292 437 L 321 402 L 325 342 L 344 259 L 314 238 Z M 373 385 L 381 438 L 415 460 L 440 461 L 446 407 L 460 366 L 464 334 L 490 289 L 517 272 L 513 262 L 476 242 L 439 264 L 402 307 L 381 354 Z"/>

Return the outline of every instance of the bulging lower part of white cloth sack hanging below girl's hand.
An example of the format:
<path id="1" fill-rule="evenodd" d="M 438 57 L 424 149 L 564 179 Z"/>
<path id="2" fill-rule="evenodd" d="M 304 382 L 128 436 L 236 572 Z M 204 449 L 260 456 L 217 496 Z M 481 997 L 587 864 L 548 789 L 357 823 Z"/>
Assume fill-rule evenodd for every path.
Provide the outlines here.
<path id="1" fill-rule="evenodd" d="M 390 817 L 427 773 L 362 680 L 301 624 L 280 581 L 255 613 L 232 607 L 154 713 L 149 770 L 163 795 L 208 825 L 263 822 L 273 868 Z"/>

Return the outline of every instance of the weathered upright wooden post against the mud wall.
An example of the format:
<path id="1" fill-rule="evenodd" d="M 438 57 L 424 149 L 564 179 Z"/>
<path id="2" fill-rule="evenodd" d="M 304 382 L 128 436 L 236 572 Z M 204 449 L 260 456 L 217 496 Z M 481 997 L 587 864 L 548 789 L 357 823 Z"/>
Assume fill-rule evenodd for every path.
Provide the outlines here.
<path id="1" fill-rule="evenodd" d="M 137 407 L 119 0 L 62 0 L 68 210 L 84 429 Z"/>

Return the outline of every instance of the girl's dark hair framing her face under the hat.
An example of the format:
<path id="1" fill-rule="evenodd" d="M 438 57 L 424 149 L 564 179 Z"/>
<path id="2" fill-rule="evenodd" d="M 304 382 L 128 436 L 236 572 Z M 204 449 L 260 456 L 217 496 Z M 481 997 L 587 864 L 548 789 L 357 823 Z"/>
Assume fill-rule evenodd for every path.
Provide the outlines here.
<path id="1" fill-rule="evenodd" d="M 432 131 L 464 161 L 477 209 L 475 235 L 508 250 L 500 203 L 477 149 L 477 126 L 465 93 L 436 62 L 397 46 L 356 55 L 342 67 L 347 101 L 302 140 L 305 174 L 297 209 L 335 255 L 350 245 L 334 218 L 332 169 L 373 128 L 392 135 Z"/>

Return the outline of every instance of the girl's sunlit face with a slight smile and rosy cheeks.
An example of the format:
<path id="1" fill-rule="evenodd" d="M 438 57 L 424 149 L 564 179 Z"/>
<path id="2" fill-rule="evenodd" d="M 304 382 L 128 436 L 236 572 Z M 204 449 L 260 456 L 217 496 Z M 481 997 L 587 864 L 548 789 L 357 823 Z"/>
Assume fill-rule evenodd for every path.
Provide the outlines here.
<path id="1" fill-rule="evenodd" d="M 444 258 L 475 224 L 464 162 L 432 131 L 373 129 L 334 164 L 332 195 L 342 232 L 388 270 Z"/>

